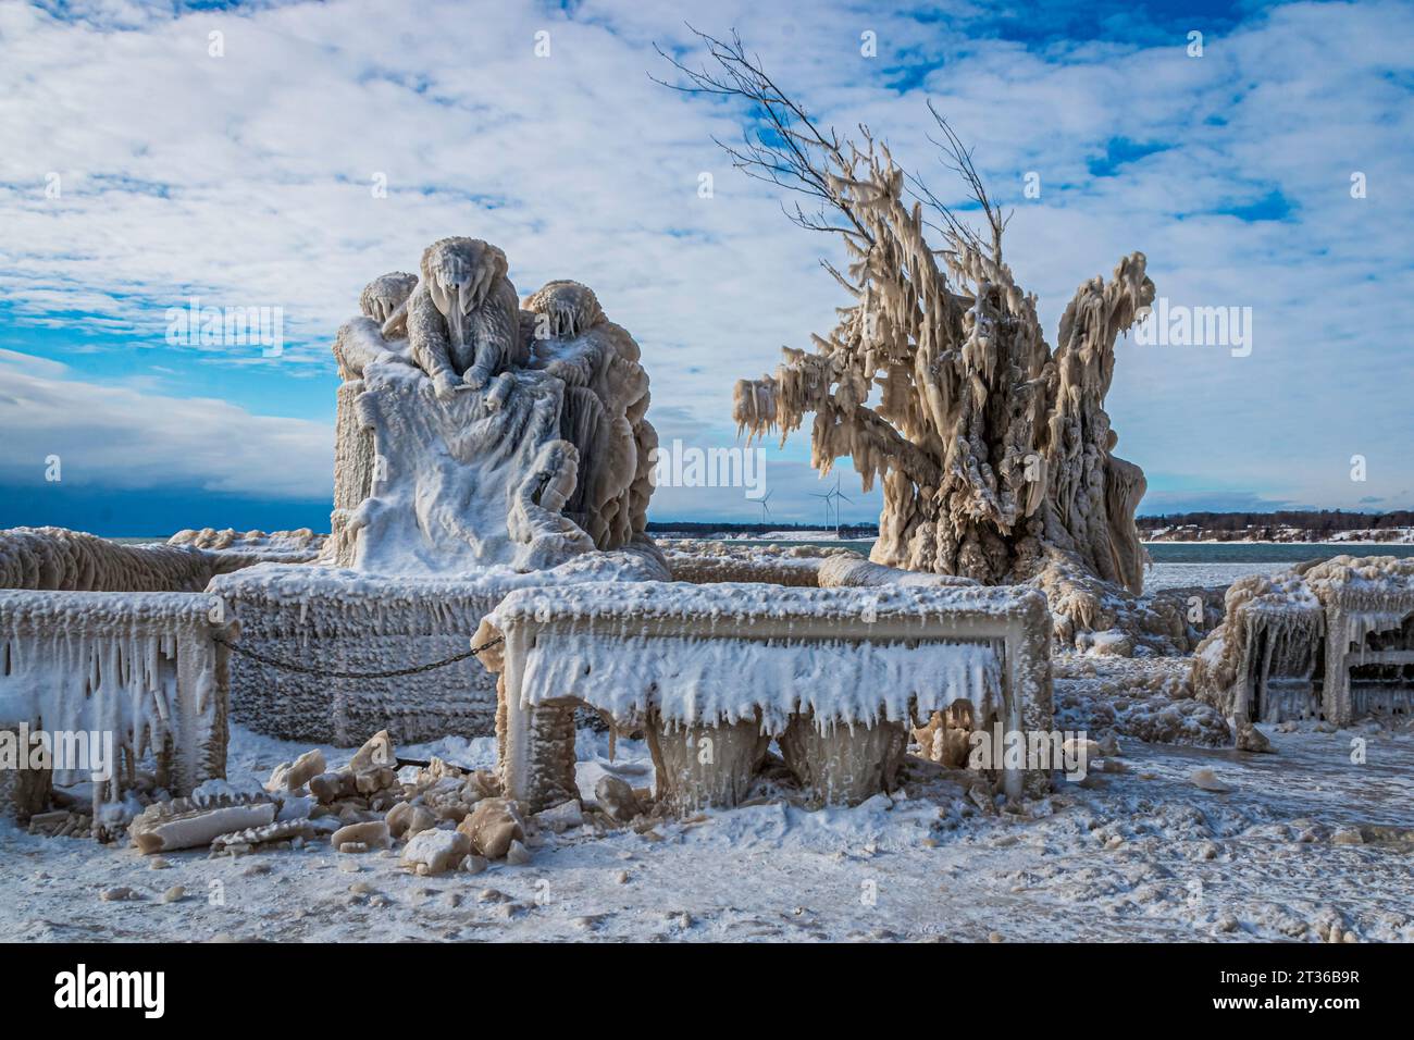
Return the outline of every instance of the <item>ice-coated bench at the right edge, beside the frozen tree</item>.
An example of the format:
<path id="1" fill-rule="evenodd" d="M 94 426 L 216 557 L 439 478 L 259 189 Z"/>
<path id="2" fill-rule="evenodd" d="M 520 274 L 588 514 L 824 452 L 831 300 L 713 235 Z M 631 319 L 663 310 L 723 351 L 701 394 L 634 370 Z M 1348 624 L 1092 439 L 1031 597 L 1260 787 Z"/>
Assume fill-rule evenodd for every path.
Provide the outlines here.
<path id="1" fill-rule="evenodd" d="M 1414 559 L 1336 556 L 1233 583 L 1193 686 L 1241 722 L 1414 713 Z"/>

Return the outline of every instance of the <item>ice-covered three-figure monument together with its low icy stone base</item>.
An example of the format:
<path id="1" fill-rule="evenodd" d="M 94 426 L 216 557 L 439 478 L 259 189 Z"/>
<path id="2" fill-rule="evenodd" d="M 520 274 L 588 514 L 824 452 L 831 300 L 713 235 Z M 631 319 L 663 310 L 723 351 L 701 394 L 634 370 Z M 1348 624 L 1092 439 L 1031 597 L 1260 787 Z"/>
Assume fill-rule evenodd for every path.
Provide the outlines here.
<path id="1" fill-rule="evenodd" d="M 496 246 L 447 238 L 419 275 L 363 290 L 334 344 L 327 557 L 209 589 L 245 648 L 310 669 L 240 657 L 236 717 L 345 746 L 491 733 L 493 681 L 467 640 L 506 593 L 667 577 L 643 535 L 656 436 L 638 344 L 587 286 L 551 282 L 522 306 L 506 273 Z"/>

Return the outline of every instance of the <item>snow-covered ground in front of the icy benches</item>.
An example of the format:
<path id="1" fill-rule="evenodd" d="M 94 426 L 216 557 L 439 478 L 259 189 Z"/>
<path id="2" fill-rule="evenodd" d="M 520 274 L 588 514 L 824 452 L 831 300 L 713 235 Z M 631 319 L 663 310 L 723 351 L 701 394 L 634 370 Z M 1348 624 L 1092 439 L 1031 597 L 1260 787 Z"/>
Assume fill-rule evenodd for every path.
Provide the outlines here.
<path id="1" fill-rule="evenodd" d="M 1414 940 L 1414 736 L 1263 729 L 1275 754 L 1121 736 L 1118 758 L 1024 815 L 983 815 L 967 773 L 912 765 L 892 799 L 810 812 L 766 787 L 761 804 L 643 833 L 546 835 L 529 865 L 475 876 L 417 877 L 393 853 L 327 843 L 154 860 L 4 822 L 0 940 L 1318 941 L 1332 923 Z M 585 794 L 604 770 L 649 782 L 641 744 L 619 741 L 612 764 L 602 734 L 578 744 Z M 238 727 L 229 773 L 263 780 L 304 750 Z M 400 751 L 488 767 L 493 741 Z M 1205 767 L 1234 790 L 1199 790 Z M 185 897 L 164 903 L 174 886 Z M 103 899 L 119 887 L 141 899 Z"/>

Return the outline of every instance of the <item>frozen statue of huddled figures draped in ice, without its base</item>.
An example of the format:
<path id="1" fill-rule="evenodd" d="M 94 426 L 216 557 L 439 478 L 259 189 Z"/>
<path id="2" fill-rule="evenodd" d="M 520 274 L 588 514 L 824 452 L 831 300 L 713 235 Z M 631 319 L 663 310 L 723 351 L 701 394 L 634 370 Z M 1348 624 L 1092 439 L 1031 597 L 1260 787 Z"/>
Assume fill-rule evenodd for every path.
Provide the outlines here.
<path id="1" fill-rule="evenodd" d="M 441 239 L 339 330 L 338 563 L 465 574 L 653 552 L 638 344 L 577 282 L 522 307 L 508 269 L 488 242 Z"/>

